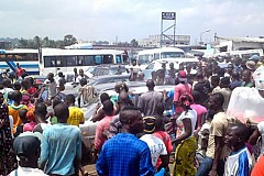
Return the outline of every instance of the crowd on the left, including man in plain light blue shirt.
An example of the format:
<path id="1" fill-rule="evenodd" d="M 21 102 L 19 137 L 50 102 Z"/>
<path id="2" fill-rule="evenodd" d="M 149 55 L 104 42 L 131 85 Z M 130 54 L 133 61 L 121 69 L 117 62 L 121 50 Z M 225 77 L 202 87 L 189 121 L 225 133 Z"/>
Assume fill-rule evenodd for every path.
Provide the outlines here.
<path id="1" fill-rule="evenodd" d="M 76 75 L 80 84 L 86 80 L 82 73 L 80 69 Z M 65 82 L 62 73 L 57 78 L 50 73 L 41 84 L 25 70 L 16 77 L 3 77 L 0 175 L 78 175 L 82 145 L 79 124 L 85 116 L 76 106 L 76 97 L 63 94 Z"/>

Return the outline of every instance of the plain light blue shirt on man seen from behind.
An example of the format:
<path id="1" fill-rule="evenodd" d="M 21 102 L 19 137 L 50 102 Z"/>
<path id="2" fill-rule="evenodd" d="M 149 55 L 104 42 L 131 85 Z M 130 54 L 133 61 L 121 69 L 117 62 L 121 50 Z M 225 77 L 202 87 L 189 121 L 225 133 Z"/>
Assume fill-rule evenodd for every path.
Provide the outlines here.
<path id="1" fill-rule="evenodd" d="M 42 158 L 47 160 L 45 174 L 73 175 L 75 157 L 81 158 L 80 129 L 67 123 L 57 123 L 46 128 L 43 135 L 47 140 L 43 147 L 48 153 L 46 158 Z"/>

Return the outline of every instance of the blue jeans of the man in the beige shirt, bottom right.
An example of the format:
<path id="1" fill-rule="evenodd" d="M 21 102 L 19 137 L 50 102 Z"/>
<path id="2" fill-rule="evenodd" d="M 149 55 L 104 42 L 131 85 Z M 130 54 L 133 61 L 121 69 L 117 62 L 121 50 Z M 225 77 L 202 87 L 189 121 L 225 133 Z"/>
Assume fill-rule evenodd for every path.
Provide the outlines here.
<path id="1" fill-rule="evenodd" d="M 201 165 L 199 166 L 196 176 L 206 176 L 210 173 L 211 167 L 212 167 L 213 160 L 211 157 L 206 156 L 205 160 L 202 161 Z M 224 174 L 224 161 L 220 160 L 218 162 L 218 167 L 217 167 L 217 173 L 218 176 L 223 176 Z"/>

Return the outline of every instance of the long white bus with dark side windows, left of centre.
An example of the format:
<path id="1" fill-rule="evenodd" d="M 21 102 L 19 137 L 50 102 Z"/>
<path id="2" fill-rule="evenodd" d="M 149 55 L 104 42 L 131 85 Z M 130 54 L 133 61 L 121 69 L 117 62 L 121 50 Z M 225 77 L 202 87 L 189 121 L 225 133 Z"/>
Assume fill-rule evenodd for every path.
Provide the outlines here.
<path id="1" fill-rule="evenodd" d="M 96 65 L 124 64 L 122 51 L 116 50 L 58 50 L 43 48 L 41 61 L 41 75 L 58 72 L 74 73 L 74 68 L 82 68 L 85 72 Z"/>

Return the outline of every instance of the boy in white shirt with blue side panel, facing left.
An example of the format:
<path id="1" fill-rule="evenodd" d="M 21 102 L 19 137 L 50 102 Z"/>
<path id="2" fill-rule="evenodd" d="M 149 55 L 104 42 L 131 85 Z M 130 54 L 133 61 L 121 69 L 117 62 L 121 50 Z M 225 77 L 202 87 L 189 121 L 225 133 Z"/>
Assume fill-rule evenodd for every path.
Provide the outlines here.
<path id="1" fill-rule="evenodd" d="M 249 129 L 243 123 L 231 124 L 226 135 L 226 141 L 232 153 L 228 156 L 224 166 L 224 175 L 248 176 L 252 170 L 252 157 L 245 142 Z"/>

